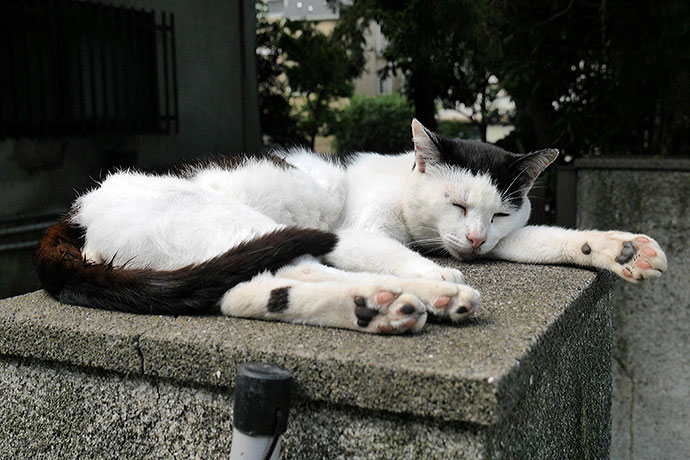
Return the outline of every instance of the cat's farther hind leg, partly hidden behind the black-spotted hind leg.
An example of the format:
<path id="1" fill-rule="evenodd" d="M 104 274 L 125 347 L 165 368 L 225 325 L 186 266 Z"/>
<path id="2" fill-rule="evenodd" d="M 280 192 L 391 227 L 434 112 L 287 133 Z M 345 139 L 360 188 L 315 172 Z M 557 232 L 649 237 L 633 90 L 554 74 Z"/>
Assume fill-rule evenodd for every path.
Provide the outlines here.
<path id="1" fill-rule="evenodd" d="M 284 267 L 276 276 L 308 282 L 335 281 L 339 283 L 376 283 L 396 286 L 401 292 L 413 294 L 425 305 L 427 311 L 436 317 L 459 321 L 475 313 L 480 295 L 469 286 L 453 282 L 403 278 L 369 272 L 348 272 L 319 263 L 311 256 L 300 258 L 298 263 Z"/>

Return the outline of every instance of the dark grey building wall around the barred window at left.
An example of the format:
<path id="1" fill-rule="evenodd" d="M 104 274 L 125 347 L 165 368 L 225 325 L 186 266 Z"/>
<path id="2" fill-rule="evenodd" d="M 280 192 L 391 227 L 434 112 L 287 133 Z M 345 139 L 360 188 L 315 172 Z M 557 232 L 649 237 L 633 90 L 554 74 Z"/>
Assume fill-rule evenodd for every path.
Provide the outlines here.
<path id="1" fill-rule="evenodd" d="M 254 2 L 123 0 L 117 4 L 175 13 L 179 134 L 2 139 L 0 221 L 65 210 L 77 193 L 117 167 L 151 168 L 260 150 Z M 0 235 L 0 248 L 3 243 Z M 0 297 L 19 292 L 8 287 L 16 286 L 17 279 L 7 280 L 26 275 L 9 265 L 17 258 L 20 266 L 29 265 L 26 253 L 0 250 L 0 266 L 5 266 L 0 271 Z"/>

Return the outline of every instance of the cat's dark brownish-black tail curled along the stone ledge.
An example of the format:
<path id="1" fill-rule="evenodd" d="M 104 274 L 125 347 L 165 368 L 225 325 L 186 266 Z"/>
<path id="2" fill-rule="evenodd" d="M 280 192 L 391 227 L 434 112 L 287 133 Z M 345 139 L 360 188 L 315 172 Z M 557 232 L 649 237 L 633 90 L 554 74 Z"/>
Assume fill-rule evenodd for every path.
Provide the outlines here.
<path id="1" fill-rule="evenodd" d="M 265 270 L 293 259 L 330 252 L 338 237 L 312 229 L 284 228 L 246 241 L 224 254 L 177 270 L 115 267 L 88 262 L 83 231 L 63 220 L 46 230 L 34 262 L 43 288 L 73 305 L 144 314 L 219 311 L 223 294 Z"/>

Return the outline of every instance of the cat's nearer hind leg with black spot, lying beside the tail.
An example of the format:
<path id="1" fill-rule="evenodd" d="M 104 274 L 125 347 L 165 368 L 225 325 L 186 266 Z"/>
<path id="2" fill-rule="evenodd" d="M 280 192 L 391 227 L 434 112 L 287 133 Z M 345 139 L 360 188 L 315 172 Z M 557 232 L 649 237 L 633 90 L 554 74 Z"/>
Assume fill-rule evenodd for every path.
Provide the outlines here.
<path id="1" fill-rule="evenodd" d="M 399 286 L 376 282 L 305 282 L 264 273 L 222 298 L 225 315 L 288 321 L 378 334 L 417 332 L 426 308 Z"/>

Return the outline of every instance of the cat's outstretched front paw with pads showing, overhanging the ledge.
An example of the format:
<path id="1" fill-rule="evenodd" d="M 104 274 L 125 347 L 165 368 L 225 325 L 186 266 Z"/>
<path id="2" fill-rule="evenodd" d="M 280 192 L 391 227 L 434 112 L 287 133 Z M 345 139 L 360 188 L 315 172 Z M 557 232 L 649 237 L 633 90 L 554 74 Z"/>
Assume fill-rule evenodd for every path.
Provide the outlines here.
<path id="1" fill-rule="evenodd" d="M 603 258 L 603 268 L 631 283 L 658 278 L 667 267 L 666 254 L 656 241 L 646 235 L 605 232 L 593 243 L 586 242 L 581 251 L 585 255 Z"/>

